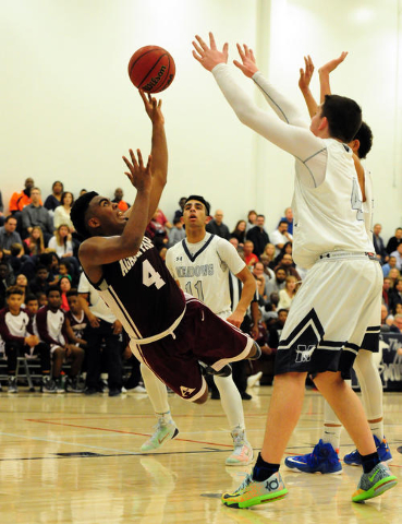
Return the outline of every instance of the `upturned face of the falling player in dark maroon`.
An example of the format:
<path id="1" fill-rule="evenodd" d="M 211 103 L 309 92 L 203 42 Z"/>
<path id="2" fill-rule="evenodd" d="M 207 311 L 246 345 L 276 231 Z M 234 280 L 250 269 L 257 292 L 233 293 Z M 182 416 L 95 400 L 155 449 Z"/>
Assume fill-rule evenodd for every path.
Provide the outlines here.
<path id="1" fill-rule="evenodd" d="M 115 202 L 110 202 L 106 196 L 94 196 L 90 201 L 90 211 L 93 218 L 88 221 L 88 224 L 93 228 L 95 226 L 94 231 L 98 227 L 99 235 L 112 236 L 123 233 L 129 218 L 119 210 Z"/>

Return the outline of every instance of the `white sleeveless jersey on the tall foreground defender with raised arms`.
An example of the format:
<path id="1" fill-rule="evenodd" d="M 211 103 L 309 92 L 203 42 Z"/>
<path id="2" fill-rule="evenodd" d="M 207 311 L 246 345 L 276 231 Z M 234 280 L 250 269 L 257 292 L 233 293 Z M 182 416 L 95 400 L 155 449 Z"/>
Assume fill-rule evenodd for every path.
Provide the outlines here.
<path id="1" fill-rule="evenodd" d="M 364 205 L 352 150 L 333 139 L 325 142 L 328 158 L 322 183 L 312 188 L 297 176 L 294 182 L 293 258 L 306 269 L 328 251 L 374 252 L 366 228 L 371 215 L 370 177 L 366 176 Z"/>

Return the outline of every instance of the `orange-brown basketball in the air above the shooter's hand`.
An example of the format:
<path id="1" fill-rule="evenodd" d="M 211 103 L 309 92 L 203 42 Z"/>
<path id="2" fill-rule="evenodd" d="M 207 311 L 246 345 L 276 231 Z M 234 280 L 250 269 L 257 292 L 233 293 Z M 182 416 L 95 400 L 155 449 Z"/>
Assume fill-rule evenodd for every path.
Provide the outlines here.
<path id="1" fill-rule="evenodd" d="M 175 73 L 171 55 L 158 46 L 145 46 L 129 62 L 129 76 L 135 87 L 146 93 L 160 93 L 173 82 Z"/>

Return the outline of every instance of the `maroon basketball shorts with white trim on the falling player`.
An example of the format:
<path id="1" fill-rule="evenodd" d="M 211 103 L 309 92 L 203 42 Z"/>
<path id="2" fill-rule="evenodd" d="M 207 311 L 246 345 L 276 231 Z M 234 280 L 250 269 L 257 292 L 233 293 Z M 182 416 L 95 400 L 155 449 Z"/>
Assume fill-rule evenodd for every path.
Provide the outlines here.
<path id="1" fill-rule="evenodd" d="M 207 388 L 198 361 L 220 371 L 229 362 L 243 360 L 253 338 L 186 295 L 185 314 L 174 333 L 150 344 L 132 340 L 130 347 L 178 395 L 196 401 Z"/>

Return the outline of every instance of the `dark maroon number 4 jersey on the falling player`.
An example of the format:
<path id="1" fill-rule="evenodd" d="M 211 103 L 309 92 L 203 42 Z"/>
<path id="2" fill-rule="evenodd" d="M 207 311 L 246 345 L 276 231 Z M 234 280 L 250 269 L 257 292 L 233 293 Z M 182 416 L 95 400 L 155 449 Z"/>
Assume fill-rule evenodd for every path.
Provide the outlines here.
<path id="1" fill-rule="evenodd" d="M 185 311 L 182 290 L 149 238 L 134 257 L 105 264 L 99 295 L 138 343 L 155 342 L 179 325 Z"/>

